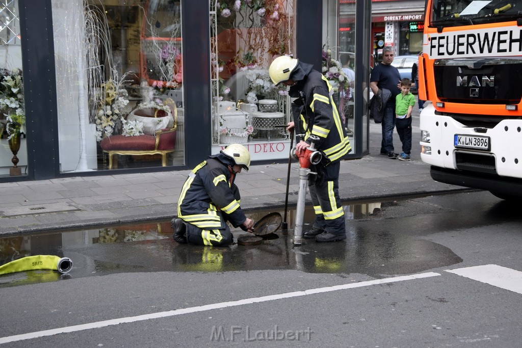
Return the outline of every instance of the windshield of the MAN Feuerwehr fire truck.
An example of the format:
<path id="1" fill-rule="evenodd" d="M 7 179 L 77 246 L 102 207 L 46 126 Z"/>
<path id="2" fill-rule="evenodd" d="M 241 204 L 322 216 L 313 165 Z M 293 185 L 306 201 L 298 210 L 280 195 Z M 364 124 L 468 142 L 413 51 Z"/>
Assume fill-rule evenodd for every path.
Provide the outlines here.
<path id="1" fill-rule="evenodd" d="M 455 27 L 522 18 L 522 0 L 434 0 L 431 27 Z"/>

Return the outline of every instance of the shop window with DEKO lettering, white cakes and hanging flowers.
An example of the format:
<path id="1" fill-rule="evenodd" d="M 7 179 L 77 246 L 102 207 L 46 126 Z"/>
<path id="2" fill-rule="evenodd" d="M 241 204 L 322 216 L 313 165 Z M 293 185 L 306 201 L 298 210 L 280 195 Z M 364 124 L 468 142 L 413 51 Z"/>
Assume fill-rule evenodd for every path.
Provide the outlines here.
<path id="1" fill-rule="evenodd" d="M 242 143 L 252 160 L 287 158 L 286 86 L 268 67 L 294 50 L 295 0 L 210 0 L 212 153 Z"/>

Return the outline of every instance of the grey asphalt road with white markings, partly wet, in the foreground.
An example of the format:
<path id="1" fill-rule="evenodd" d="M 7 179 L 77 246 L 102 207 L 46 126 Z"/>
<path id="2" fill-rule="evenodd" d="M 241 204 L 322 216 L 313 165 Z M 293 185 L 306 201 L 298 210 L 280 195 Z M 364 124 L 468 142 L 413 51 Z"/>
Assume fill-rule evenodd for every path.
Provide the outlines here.
<path id="1" fill-rule="evenodd" d="M 282 232 L 230 248 L 63 234 L 70 279 L 0 277 L 0 343 L 519 346 L 517 207 L 476 191 L 348 207 L 347 217 L 346 241 L 300 247 Z"/>

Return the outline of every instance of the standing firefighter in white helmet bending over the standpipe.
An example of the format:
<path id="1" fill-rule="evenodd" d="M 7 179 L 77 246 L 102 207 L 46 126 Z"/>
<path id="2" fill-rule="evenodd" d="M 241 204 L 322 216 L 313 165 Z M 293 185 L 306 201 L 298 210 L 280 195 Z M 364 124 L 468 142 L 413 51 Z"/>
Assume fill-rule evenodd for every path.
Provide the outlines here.
<path id="1" fill-rule="evenodd" d="M 346 238 L 345 216 L 339 197 L 340 160 L 351 150 L 346 129 L 342 125 L 332 98 L 330 83 L 311 64 L 289 56 L 280 56 L 270 65 L 269 74 L 277 86 L 290 86 L 293 122 L 296 128 L 295 151 L 299 155 L 313 143 L 322 160 L 310 166 L 317 173 L 309 178 L 310 195 L 315 211 L 313 229 L 303 234 L 317 242 L 334 242 Z"/>

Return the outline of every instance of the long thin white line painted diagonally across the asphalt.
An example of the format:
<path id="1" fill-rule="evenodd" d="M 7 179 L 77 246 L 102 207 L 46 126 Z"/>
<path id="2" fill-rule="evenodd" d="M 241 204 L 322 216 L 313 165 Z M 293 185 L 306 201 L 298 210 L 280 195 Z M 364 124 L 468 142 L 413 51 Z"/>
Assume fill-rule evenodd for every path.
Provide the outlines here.
<path id="1" fill-rule="evenodd" d="M 126 317 L 126 318 L 90 322 L 90 323 L 86 323 L 86 324 L 82 324 L 82 325 L 67 326 L 67 327 L 58 328 L 58 329 L 43 330 L 43 331 L 29 332 L 29 333 L 23 333 L 23 334 L 13 335 L 13 336 L 0 337 L 0 344 L 8 343 L 8 342 L 30 340 L 30 339 L 34 339 L 34 338 L 38 338 L 38 337 L 52 336 L 52 335 L 55 335 L 58 333 L 75 332 L 75 331 L 102 328 L 102 327 L 106 327 L 106 326 L 122 324 L 125 322 L 135 322 L 135 321 L 141 321 L 141 320 L 172 317 L 172 316 L 176 316 L 176 315 L 195 313 L 195 312 L 204 311 L 204 310 L 241 306 L 241 305 L 258 303 L 258 302 L 274 301 L 276 299 L 281 299 L 281 298 L 298 297 L 298 296 L 318 294 L 318 293 L 323 293 L 323 292 L 353 289 L 354 287 L 362 287 L 362 286 L 368 286 L 368 285 L 400 282 L 403 280 L 413 280 L 413 279 L 435 277 L 436 275 L 441 275 L 441 274 L 435 273 L 435 272 L 426 272 L 426 273 L 420 273 L 420 274 L 402 275 L 401 277 L 375 279 L 375 280 L 370 280 L 370 281 L 366 281 L 366 282 L 349 283 L 349 284 L 342 284 L 342 285 L 335 285 L 335 286 L 328 286 L 328 287 L 318 287 L 316 289 L 309 289 L 309 290 L 305 290 L 305 291 L 295 291 L 295 292 L 289 292 L 289 293 L 284 293 L 284 294 L 268 295 L 268 296 L 263 296 L 263 297 L 245 298 L 245 299 L 240 299 L 239 301 L 221 302 L 221 303 L 215 303 L 215 304 L 210 304 L 210 305 L 205 305 L 205 306 L 181 308 L 181 309 L 176 309 L 176 310 L 169 310 L 169 311 L 163 311 L 163 312 L 158 312 L 158 313 L 139 315 L 139 316 L 135 316 L 135 317 Z"/>

